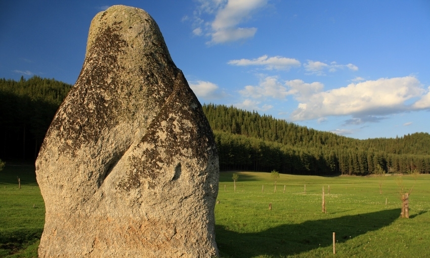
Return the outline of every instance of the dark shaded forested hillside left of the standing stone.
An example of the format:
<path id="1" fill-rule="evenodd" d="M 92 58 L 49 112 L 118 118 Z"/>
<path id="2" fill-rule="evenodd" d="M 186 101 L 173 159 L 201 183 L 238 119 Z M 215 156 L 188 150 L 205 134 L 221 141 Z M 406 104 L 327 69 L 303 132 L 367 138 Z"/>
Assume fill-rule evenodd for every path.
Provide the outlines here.
<path id="1" fill-rule="evenodd" d="M 34 160 L 72 85 L 38 76 L 0 79 L 0 159 Z"/>

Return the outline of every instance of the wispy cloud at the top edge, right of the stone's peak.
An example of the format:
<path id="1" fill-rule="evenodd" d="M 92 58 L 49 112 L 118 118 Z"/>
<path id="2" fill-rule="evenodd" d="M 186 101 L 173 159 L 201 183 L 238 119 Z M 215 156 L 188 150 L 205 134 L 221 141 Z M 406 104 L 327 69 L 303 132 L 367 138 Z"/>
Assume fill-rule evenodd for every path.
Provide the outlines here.
<path id="1" fill-rule="evenodd" d="M 267 2 L 268 0 L 199 0 L 199 6 L 194 11 L 193 33 L 197 36 L 210 36 L 208 44 L 253 37 L 257 28 L 239 25 L 249 20 Z M 210 17 L 208 21 L 204 20 L 204 15 Z"/>

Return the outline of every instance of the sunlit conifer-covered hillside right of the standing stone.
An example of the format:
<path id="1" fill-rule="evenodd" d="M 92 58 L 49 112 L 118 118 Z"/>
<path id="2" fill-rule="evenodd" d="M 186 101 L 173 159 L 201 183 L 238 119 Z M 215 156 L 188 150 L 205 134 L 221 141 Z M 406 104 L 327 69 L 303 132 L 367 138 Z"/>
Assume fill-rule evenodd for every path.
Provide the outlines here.
<path id="1" fill-rule="evenodd" d="M 204 105 L 224 170 L 323 175 L 430 172 L 430 135 L 358 140 L 234 107 Z"/>

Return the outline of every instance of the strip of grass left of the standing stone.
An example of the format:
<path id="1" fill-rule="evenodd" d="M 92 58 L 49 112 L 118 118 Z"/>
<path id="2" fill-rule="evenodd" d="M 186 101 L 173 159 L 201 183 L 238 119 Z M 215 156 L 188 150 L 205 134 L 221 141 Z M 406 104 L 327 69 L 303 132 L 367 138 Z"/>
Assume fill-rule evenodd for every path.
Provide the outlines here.
<path id="1" fill-rule="evenodd" d="M 0 172 L 0 257 L 37 257 L 45 203 L 34 171 L 34 165 L 7 164 Z"/>

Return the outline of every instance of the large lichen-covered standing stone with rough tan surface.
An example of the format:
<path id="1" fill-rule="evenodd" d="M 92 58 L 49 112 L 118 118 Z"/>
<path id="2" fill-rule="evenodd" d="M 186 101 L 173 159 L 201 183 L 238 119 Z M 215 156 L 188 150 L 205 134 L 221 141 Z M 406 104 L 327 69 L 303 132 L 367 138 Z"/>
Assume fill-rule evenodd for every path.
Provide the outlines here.
<path id="1" fill-rule="evenodd" d="M 39 257 L 211 257 L 218 153 L 154 20 L 113 6 L 36 161 Z"/>

